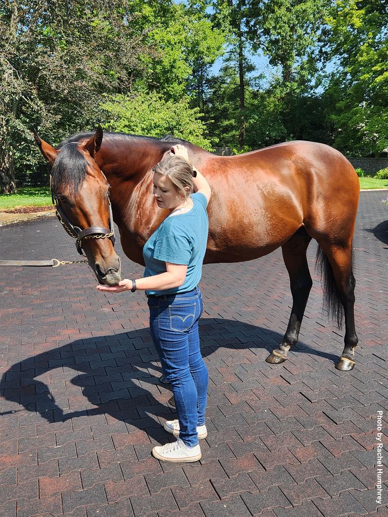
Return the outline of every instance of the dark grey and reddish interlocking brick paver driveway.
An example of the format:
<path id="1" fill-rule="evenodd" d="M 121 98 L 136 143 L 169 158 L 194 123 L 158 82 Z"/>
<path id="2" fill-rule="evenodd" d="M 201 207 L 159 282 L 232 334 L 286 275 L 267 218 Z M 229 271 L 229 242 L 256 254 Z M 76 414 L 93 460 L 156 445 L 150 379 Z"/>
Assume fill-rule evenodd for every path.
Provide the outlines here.
<path id="1" fill-rule="evenodd" d="M 143 293 L 99 293 L 84 265 L 1 268 L 0 516 L 383 515 L 385 468 L 381 504 L 375 484 L 379 411 L 387 443 L 384 194 L 361 194 L 360 346 L 350 373 L 334 369 L 342 331 L 321 312 L 316 276 L 300 344 L 274 367 L 264 359 L 291 307 L 280 250 L 204 266 L 209 434 L 196 464 L 150 455 L 154 444 L 171 439 L 161 424 L 174 414 L 169 390 L 158 384 Z M 77 257 L 52 217 L 2 227 L 0 239 L 0 258 Z M 315 249 L 311 244 L 311 265 Z M 124 261 L 125 276 L 142 269 Z"/>

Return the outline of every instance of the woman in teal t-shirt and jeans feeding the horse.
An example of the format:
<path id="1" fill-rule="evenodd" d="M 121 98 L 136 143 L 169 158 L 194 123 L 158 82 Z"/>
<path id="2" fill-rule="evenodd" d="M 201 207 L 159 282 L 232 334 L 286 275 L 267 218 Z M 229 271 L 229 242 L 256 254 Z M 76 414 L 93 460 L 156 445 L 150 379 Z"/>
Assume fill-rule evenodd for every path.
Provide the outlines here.
<path id="1" fill-rule="evenodd" d="M 156 203 L 170 213 L 144 245 L 143 278 L 125 279 L 115 287 L 98 285 L 97 289 L 145 291 L 152 339 L 163 373 L 172 385 L 178 414 L 177 420 L 164 425 L 178 437 L 176 442 L 154 447 L 152 452 L 159 460 L 191 462 L 201 458 L 198 440 L 207 435 L 208 373 L 199 346 L 203 303 L 198 282 L 206 251 L 206 206 L 211 190 L 188 162 L 183 145 L 175 145 L 171 151 L 153 168 Z"/>

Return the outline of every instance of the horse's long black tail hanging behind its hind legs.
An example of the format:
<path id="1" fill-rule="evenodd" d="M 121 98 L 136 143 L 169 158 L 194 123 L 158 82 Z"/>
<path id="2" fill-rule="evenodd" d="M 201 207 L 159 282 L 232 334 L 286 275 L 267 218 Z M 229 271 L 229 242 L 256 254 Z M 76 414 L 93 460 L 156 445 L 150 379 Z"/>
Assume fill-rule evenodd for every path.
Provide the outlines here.
<path id="1" fill-rule="evenodd" d="M 327 317 L 334 320 L 338 328 L 344 321 L 344 306 L 342 305 L 337 284 L 334 278 L 332 266 L 322 248 L 318 245 L 316 268 L 322 277 L 323 308 L 327 311 Z M 350 275 L 353 274 L 353 242 L 350 247 Z"/>

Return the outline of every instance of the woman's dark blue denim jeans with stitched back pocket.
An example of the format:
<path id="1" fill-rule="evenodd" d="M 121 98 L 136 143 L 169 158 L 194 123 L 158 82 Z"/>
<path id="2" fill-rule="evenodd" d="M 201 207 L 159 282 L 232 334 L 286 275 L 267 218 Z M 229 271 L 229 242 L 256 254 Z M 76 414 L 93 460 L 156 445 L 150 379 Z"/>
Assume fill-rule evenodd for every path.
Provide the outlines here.
<path id="1" fill-rule="evenodd" d="M 198 444 L 197 425 L 205 423 L 208 384 L 198 333 L 202 294 L 197 286 L 189 293 L 150 295 L 148 307 L 151 336 L 174 393 L 179 436 L 193 447 Z"/>

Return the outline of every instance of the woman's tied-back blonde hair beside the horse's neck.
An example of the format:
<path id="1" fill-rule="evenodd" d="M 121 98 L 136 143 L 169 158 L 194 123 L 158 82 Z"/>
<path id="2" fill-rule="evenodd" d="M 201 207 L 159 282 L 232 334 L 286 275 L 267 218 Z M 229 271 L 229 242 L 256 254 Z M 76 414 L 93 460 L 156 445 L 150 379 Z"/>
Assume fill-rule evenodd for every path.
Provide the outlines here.
<path id="1" fill-rule="evenodd" d="M 187 200 L 193 191 L 192 165 L 181 156 L 167 155 L 152 170 L 161 176 L 167 176 L 175 190 Z M 189 187 L 189 191 L 185 190 Z"/>

